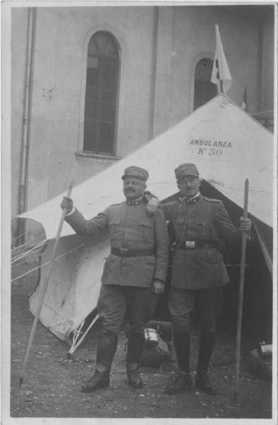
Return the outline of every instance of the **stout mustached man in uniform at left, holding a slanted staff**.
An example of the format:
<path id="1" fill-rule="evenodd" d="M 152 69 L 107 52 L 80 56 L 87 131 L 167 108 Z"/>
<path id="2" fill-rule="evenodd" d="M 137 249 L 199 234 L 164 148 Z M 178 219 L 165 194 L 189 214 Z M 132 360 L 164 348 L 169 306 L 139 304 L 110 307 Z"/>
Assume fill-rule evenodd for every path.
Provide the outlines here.
<path id="1" fill-rule="evenodd" d="M 67 209 L 65 220 L 78 234 L 97 234 L 109 229 L 111 254 L 106 259 L 101 278 L 97 312 L 102 331 L 97 341 L 96 370 L 82 385 L 82 392 L 93 392 L 109 385 L 118 332 L 127 314 L 129 333 L 127 348 L 128 384 L 142 387 L 138 366 L 143 350 L 145 324 L 155 310 L 157 294 L 164 291 L 168 262 L 168 234 L 161 210 L 146 212 L 144 191 L 148 171 L 128 167 L 122 176 L 126 201 L 110 205 L 91 220 L 64 197 L 61 208 Z"/>

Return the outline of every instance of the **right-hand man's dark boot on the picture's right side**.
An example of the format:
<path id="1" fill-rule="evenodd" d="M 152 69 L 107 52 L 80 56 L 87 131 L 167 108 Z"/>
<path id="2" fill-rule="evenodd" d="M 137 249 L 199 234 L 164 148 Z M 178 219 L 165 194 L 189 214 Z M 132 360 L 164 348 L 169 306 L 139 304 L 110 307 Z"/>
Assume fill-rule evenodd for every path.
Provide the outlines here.
<path id="1" fill-rule="evenodd" d="M 208 378 L 208 364 L 211 359 L 215 339 L 215 332 L 204 331 L 201 334 L 199 342 L 197 375 L 195 379 L 196 389 L 211 395 L 218 394 L 216 387 L 214 387 L 214 385 L 211 383 L 211 380 Z"/>

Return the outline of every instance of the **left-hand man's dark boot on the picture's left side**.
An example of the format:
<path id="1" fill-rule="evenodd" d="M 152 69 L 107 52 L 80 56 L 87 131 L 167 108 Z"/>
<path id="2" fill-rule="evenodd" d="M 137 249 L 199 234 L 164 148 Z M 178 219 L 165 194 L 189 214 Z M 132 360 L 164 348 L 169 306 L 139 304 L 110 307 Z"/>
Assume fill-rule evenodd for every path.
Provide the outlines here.
<path id="1" fill-rule="evenodd" d="M 94 392 L 109 386 L 110 370 L 117 344 L 118 335 L 109 333 L 99 335 L 96 348 L 96 370 L 94 375 L 82 385 L 82 392 Z"/>

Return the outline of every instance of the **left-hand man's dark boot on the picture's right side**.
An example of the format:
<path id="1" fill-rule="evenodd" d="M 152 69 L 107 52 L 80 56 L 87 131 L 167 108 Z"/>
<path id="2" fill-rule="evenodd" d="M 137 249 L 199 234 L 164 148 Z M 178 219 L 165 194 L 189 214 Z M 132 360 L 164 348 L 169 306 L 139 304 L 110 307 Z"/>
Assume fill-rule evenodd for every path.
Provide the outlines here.
<path id="1" fill-rule="evenodd" d="M 144 336 L 139 332 L 130 332 L 128 336 L 128 353 L 126 356 L 126 374 L 128 385 L 133 388 L 143 387 L 143 381 L 139 374 L 140 357 L 144 346 Z"/>

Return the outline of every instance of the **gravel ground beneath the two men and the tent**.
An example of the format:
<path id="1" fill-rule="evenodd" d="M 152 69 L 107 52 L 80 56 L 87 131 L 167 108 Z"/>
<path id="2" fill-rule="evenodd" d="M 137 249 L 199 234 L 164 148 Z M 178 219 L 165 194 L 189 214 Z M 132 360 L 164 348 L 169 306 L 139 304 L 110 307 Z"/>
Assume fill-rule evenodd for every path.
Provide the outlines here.
<path id="1" fill-rule="evenodd" d="M 19 276 L 33 263 L 13 270 Z M 67 358 L 69 346 L 53 336 L 40 322 L 30 351 L 26 376 L 21 389 L 18 378 L 26 352 L 33 316 L 28 310 L 28 294 L 35 288 L 33 272 L 11 286 L 11 404 L 12 418 L 246 418 L 267 419 L 272 415 L 272 382 L 250 373 L 249 352 L 253 346 L 243 341 L 240 359 L 238 401 L 233 402 L 234 338 L 228 332 L 218 334 L 211 360 L 210 375 L 220 394 L 206 395 L 192 388 L 179 395 L 166 395 L 165 384 L 173 373 L 176 358 L 160 368 L 141 368 L 145 385 L 135 390 L 126 382 L 125 333 L 121 332 L 111 371 L 111 385 L 92 394 L 80 392 L 80 386 L 94 371 L 96 325 L 73 360 Z M 196 334 L 192 335 L 192 373 L 196 367 Z M 17 422 L 16 422 L 17 423 Z M 59 424 L 59 421 L 55 424 Z M 64 422 L 63 422 L 64 423 Z M 222 423 L 222 422 L 221 422 Z"/>

